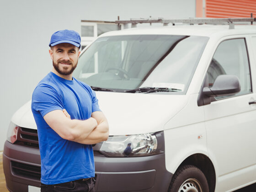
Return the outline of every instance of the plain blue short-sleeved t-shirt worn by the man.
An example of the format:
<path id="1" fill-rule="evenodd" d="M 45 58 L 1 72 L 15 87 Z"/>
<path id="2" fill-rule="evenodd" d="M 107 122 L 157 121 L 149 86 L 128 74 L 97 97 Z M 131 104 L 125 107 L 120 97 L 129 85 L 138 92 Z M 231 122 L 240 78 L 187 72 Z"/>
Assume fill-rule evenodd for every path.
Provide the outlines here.
<path id="1" fill-rule="evenodd" d="M 67 110 L 71 119 L 90 118 L 92 112 L 100 111 L 91 87 L 50 72 L 35 88 L 31 108 L 37 123 L 41 182 L 52 185 L 94 177 L 92 146 L 62 139 L 43 119 L 48 112 L 62 109 Z"/>

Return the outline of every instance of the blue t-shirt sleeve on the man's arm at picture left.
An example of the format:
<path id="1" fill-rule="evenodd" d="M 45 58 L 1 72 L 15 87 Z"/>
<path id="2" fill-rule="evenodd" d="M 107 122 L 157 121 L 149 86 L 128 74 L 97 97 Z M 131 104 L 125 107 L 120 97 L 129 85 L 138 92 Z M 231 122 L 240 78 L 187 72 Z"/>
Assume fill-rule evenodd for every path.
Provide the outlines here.
<path id="1" fill-rule="evenodd" d="M 49 85 L 39 85 L 32 95 L 32 109 L 40 112 L 44 117 L 48 112 L 62 110 L 63 101 L 61 95 Z"/>

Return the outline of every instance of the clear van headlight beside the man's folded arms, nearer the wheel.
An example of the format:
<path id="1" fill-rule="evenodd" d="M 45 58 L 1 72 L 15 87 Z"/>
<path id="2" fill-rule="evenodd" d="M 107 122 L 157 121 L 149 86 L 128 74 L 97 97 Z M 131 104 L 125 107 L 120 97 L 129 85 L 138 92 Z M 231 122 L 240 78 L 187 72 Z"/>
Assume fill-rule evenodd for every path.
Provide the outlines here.
<path id="1" fill-rule="evenodd" d="M 154 133 L 112 136 L 101 145 L 100 152 L 108 157 L 137 157 L 155 155 L 157 137 Z"/>

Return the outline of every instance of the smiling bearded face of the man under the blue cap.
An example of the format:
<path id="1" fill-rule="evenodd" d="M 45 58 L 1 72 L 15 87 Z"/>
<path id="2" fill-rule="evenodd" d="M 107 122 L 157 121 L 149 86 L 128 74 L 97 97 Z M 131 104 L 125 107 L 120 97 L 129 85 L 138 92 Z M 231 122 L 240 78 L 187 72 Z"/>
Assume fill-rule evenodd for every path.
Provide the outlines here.
<path id="1" fill-rule="evenodd" d="M 53 67 L 60 75 L 70 75 L 76 68 L 79 48 L 70 43 L 60 43 L 49 50 Z"/>

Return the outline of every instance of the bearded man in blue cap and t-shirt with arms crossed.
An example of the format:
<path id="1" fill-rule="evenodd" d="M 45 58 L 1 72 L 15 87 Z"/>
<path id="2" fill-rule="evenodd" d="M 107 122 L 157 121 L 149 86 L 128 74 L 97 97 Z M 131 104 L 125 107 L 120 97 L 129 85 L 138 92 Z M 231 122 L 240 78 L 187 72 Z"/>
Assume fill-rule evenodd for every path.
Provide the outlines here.
<path id="1" fill-rule="evenodd" d="M 80 35 L 62 30 L 50 41 L 53 69 L 32 95 L 41 155 L 41 192 L 94 192 L 91 144 L 107 140 L 108 123 L 95 92 L 72 77 Z"/>

